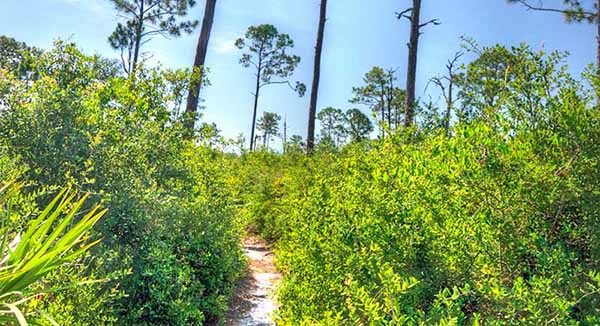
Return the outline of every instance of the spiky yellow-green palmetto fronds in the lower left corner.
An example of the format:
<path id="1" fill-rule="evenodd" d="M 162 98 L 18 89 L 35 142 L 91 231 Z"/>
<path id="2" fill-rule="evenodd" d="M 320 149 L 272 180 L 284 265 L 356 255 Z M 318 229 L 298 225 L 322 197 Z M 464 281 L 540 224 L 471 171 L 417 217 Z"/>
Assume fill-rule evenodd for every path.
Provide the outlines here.
<path id="1" fill-rule="evenodd" d="M 0 210 L 6 200 L 18 191 L 20 185 L 8 183 L 0 188 Z M 27 325 L 19 305 L 32 297 L 25 297 L 27 288 L 49 272 L 71 262 L 100 240 L 87 242 L 85 235 L 106 213 L 99 206 L 92 208 L 78 221 L 74 221 L 88 195 L 75 199 L 73 191 L 64 189 L 28 226 L 16 246 L 11 248 L 10 230 L 0 229 L 0 322 L 16 321 Z M 86 243 L 87 242 L 87 243 Z M 19 298 L 14 300 L 14 298 Z M 13 299 L 13 300 L 11 300 Z"/>

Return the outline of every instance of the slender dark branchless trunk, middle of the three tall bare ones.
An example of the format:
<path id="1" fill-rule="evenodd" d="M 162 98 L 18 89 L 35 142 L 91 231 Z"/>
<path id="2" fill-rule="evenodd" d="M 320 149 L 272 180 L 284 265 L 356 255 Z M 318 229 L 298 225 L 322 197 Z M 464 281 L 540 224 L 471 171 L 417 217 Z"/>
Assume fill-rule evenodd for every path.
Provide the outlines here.
<path id="1" fill-rule="evenodd" d="M 321 52 L 323 50 L 323 36 L 325 34 L 325 20 L 327 16 L 327 0 L 321 0 L 319 14 L 319 30 L 317 31 L 317 45 L 315 46 L 315 63 L 313 69 L 313 83 L 310 93 L 310 107 L 308 108 L 308 135 L 306 136 L 306 150 L 311 153 L 315 146 L 315 118 L 317 114 L 317 96 L 319 94 L 319 80 L 321 78 Z"/>

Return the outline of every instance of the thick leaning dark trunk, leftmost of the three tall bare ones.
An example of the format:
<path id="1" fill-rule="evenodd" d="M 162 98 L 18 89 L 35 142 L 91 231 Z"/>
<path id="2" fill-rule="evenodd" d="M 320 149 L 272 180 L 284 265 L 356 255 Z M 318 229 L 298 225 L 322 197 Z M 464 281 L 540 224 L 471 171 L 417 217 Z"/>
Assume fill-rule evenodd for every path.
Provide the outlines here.
<path id="1" fill-rule="evenodd" d="M 200 69 L 201 78 L 198 80 L 194 80 L 191 83 L 190 89 L 188 91 L 187 104 L 185 107 L 186 116 L 184 123 L 190 135 L 194 130 L 194 124 L 196 122 L 196 112 L 198 110 L 200 89 L 202 88 L 202 78 L 204 75 L 204 62 L 206 60 L 206 52 L 208 50 L 210 31 L 212 29 L 213 20 L 215 17 L 216 4 L 217 0 L 206 0 L 206 5 L 204 7 L 204 19 L 202 20 L 202 29 L 200 31 L 200 37 L 198 38 L 198 44 L 196 46 L 196 56 L 194 58 L 193 68 Z"/>

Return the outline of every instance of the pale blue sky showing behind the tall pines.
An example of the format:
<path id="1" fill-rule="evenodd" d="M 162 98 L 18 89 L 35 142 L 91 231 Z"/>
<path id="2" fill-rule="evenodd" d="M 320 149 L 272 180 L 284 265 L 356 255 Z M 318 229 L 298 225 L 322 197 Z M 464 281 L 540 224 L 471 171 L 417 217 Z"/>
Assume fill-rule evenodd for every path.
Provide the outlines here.
<path id="1" fill-rule="evenodd" d="M 204 1 L 197 2 L 190 15 L 201 19 Z M 546 1 L 548 5 L 561 2 Z M 364 73 L 375 65 L 398 69 L 399 83 L 404 85 L 409 26 L 396 20 L 394 12 L 409 3 L 329 0 L 319 108 L 350 108 L 352 86 L 360 85 Z M 106 41 L 118 20 L 108 0 L 0 0 L 0 6 L 0 34 L 41 48 L 50 47 L 54 39 L 67 39 L 87 53 L 118 57 Z M 296 42 L 294 52 L 302 57 L 293 80 L 310 85 L 318 11 L 319 0 L 219 0 L 207 55 L 212 85 L 202 94 L 204 120 L 215 122 L 226 137 L 249 134 L 253 73 L 239 65 L 240 52 L 233 42 L 250 25 L 271 23 L 290 34 Z M 568 50 L 567 63 L 577 75 L 595 60 L 594 26 L 565 24 L 560 15 L 528 12 L 506 0 L 424 0 L 422 19 L 431 18 L 440 19 L 442 25 L 428 27 L 421 37 L 418 96 L 430 77 L 444 72 L 446 60 L 460 48 L 461 35 L 482 45 L 526 42 L 537 49 Z M 198 34 L 199 29 L 177 39 L 155 38 L 144 50 L 153 55 L 153 63 L 188 67 Z M 305 137 L 309 92 L 298 98 L 287 86 L 265 88 L 259 114 L 266 110 L 287 116 L 288 135 Z"/>

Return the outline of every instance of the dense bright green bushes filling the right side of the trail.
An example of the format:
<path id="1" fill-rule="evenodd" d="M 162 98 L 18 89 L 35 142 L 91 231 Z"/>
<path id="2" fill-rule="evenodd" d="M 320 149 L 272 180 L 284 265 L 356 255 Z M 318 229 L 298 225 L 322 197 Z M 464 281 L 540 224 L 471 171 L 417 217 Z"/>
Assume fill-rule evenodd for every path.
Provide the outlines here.
<path id="1" fill-rule="evenodd" d="M 282 323 L 600 322 L 600 113 L 556 56 L 514 51 L 527 74 L 492 91 L 501 110 L 451 137 L 246 158 L 249 219 L 278 239 Z"/>

